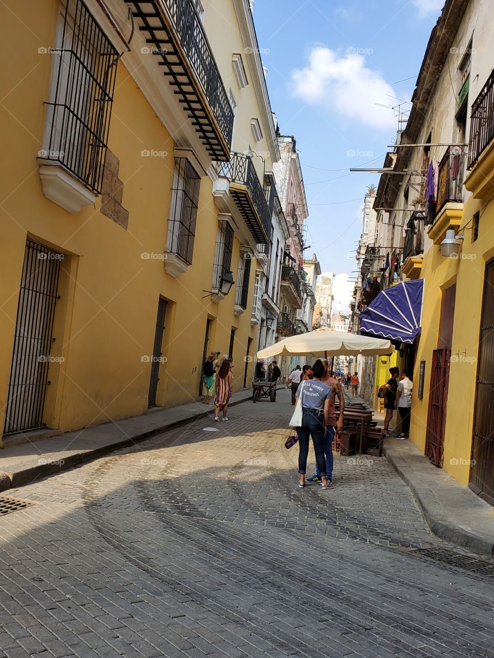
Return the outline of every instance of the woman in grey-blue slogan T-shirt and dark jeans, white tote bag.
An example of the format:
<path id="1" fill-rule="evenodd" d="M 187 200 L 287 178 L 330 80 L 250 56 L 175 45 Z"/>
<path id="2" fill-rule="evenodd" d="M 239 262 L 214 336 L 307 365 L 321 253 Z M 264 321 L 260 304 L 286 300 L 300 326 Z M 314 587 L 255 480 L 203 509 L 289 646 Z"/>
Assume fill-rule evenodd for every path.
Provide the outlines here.
<path id="1" fill-rule="evenodd" d="M 298 402 L 298 398 L 301 397 L 302 402 L 302 425 L 296 428 L 298 435 L 298 472 L 300 474 L 298 486 L 301 489 L 306 486 L 310 438 L 314 443 L 317 466 L 321 474 L 321 488 L 324 490 L 333 488 L 327 481 L 324 457 L 324 437 L 329 422 L 331 398 L 331 387 L 322 381 L 324 372 L 323 364 L 317 359 L 312 367 L 314 379 L 300 382 L 296 392 L 296 401 Z"/>

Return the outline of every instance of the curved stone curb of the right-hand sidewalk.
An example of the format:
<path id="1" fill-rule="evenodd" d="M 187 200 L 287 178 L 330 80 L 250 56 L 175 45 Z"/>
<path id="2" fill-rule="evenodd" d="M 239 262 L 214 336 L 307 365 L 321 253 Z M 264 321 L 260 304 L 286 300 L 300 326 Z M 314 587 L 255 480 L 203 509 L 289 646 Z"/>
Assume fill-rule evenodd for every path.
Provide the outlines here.
<path id="1" fill-rule="evenodd" d="M 445 542 L 449 542 L 449 544 L 454 544 L 460 548 L 472 551 L 472 553 L 478 553 L 491 559 L 494 558 L 494 538 L 489 538 L 487 533 L 485 536 L 480 536 L 478 533 L 469 532 L 455 523 L 453 519 L 447 518 L 445 509 L 433 490 L 414 477 L 414 469 L 408 465 L 396 449 L 385 444 L 383 455 L 385 455 L 387 461 L 389 461 L 398 475 L 412 490 L 431 532 Z M 474 495 L 470 491 L 465 491 L 464 493 L 465 495 Z"/>

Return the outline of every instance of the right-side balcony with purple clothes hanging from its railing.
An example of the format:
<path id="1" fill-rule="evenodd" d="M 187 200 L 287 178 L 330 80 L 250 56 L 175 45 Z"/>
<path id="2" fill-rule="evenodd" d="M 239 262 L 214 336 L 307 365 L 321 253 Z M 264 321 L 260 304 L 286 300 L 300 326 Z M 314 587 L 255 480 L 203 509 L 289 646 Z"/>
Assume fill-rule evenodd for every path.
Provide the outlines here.
<path id="1" fill-rule="evenodd" d="M 459 146 L 448 147 L 439 163 L 436 211 L 429 238 L 434 244 L 444 240 L 450 226 L 460 226 L 463 215 L 463 170 L 465 154 Z"/>

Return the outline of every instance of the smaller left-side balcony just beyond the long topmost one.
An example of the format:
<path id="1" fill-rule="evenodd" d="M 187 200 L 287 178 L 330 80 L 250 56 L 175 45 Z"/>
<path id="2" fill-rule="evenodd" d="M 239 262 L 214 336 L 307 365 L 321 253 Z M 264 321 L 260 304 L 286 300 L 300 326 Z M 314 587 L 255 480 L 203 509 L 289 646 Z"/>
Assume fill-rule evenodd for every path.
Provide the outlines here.
<path id="1" fill-rule="evenodd" d="M 266 244 L 271 213 L 252 158 L 233 151 L 228 162 L 217 162 L 215 168 L 219 176 L 229 180 L 229 193 L 256 243 Z M 214 190 L 213 193 L 216 194 Z"/>

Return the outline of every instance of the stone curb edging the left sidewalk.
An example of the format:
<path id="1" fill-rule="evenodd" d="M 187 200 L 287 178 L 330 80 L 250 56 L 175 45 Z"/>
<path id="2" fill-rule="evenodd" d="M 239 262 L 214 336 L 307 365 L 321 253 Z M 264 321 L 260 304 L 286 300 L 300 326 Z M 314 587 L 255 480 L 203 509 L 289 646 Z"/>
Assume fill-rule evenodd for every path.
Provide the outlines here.
<path id="1" fill-rule="evenodd" d="M 285 388 L 285 386 L 278 386 L 277 390 L 283 388 Z M 233 400 L 229 406 L 234 407 L 235 405 L 242 404 L 249 401 L 250 399 L 252 399 L 252 393 L 244 393 L 241 398 L 239 397 L 239 399 Z M 128 447 L 129 445 L 134 445 L 134 443 L 145 441 L 146 439 L 151 438 L 151 436 L 167 432 L 168 430 L 173 430 L 181 425 L 187 424 L 188 422 L 212 415 L 213 413 L 213 408 L 207 409 L 206 411 L 200 409 L 196 413 L 192 412 L 189 417 L 162 422 L 159 426 L 155 426 L 151 430 L 138 431 L 136 434 L 132 434 L 130 438 L 123 436 L 122 438 L 111 439 L 108 440 L 107 443 L 103 445 L 100 443 L 95 447 L 89 447 L 91 440 L 88 438 L 87 450 L 76 449 L 70 451 L 65 450 L 59 453 L 46 453 L 41 458 L 45 463 L 36 463 L 32 459 L 30 461 L 20 461 L 16 463 L 10 470 L 0 470 L 0 492 L 7 491 L 11 488 L 16 488 L 24 484 L 30 484 L 39 478 L 45 478 L 49 475 L 59 473 L 63 470 L 67 470 L 68 468 L 72 468 L 87 461 L 91 461 L 92 459 L 97 459 L 98 457 L 102 457 L 103 455 L 113 452 L 114 450 Z M 153 415 L 150 415 L 150 420 L 152 420 L 152 418 Z M 131 418 L 124 418 L 124 420 L 131 420 Z M 98 426 L 88 429 L 97 430 L 97 427 Z M 63 434 L 61 437 L 63 437 Z"/>

